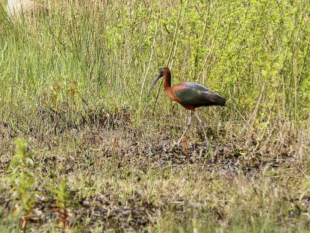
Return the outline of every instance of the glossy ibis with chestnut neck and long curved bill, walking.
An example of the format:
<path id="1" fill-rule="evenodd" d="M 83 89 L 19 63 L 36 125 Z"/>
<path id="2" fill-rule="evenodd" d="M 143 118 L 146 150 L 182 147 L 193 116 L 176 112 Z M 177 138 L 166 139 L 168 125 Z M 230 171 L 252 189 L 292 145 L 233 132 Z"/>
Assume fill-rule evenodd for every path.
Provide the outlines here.
<path id="1" fill-rule="evenodd" d="M 207 143 L 209 143 L 205 127 L 203 126 L 200 117 L 195 111 L 195 108 L 202 107 L 202 106 L 212 106 L 212 105 L 224 107 L 226 104 L 226 100 L 222 96 L 217 94 L 216 92 L 195 82 L 182 82 L 182 83 L 178 83 L 174 85 L 173 87 L 171 87 L 171 72 L 167 66 L 163 66 L 158 70 L 157 76 L 154 79 L 148 91 L 148 96 L 150 95 L 152 87 L 162 77 L 164 78 L 164 89 L 165 89 L 166 95 L 170 99 L 181 104 L 184 108 L 190 111 L 187 127 L 184 130 L 184 133 L 182 134 L 181 138 L 178 140 L 177 144 L 179 145 L 182 142 L 182 138 L 184 138 L 186 132 L 191 126 L 193 113 L 197 117 L 202 127 Z"/>

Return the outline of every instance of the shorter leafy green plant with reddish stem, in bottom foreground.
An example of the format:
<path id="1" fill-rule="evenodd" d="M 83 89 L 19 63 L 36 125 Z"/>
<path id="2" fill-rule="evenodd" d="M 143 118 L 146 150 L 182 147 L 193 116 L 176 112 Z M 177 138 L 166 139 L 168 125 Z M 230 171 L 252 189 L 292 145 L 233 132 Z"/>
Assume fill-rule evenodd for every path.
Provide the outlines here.
<path id="1" fill-rule="evenodd" d="M 69 202 L 72 202 L 78 205 L 79 203 L 76 200 L 68 198 L 69 194 L 71 193 L 71 191 L 74 190 L 74 188 L 70 188 L 69 190 L 67 190 L 67 179 L 60 178 L 58 183 L 59 183 L 60 190 L 51 190 L 53 193 L 57 194 L 54 197 L 54 200 L 56 200 L 56 203 L 53 204 L 54 206 L 53 210 L 59 213 L 57 217 L 59 217 L 60 219 L 57 222 L 57 228 L 59 228 L 60 224 L 63 223 L 62 231 L 67 232 L 69 230 L 69 226 L 67 224 L 67 218 L 73 217 L 73 215 L 71 214 L 71 210 L 70 210 L 73 207 L 73 205 L 69 204 Z"/>

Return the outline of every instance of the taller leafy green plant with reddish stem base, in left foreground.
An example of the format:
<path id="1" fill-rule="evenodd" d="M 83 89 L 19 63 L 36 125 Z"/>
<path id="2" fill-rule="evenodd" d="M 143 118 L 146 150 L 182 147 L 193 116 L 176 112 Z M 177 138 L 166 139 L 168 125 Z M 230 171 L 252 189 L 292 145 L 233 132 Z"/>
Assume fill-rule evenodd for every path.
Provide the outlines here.
<path id="1" fill-rule="evenodd" d="M 37 165 L 33 162 L 32 157 L 37 154 L 30 152 L 26 154 L 27 146 L 30 139 L 24 141 L 15 139 L 17 154 L 13 155 L 13 161 L 8 167 L 11 171 L 11 185 L 12 188 L 9 193 L 12 193 L 14 215 L 21 216 L 20 223 L 22 223 L 22 230 L 26 230 L 27 222 L 32 218 L 35 213 L 34 207 L 36 206 L 38 198 L 35 194 L 41 194 L 39 191 L 33 191 L 34 173 L 32 167 Z"/>

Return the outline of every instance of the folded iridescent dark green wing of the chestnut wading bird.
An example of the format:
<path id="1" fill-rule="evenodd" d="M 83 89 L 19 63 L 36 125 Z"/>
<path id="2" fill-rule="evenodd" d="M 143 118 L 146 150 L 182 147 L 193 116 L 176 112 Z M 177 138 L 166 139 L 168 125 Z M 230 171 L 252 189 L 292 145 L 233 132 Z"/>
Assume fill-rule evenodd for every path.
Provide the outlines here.
<path id="1" fill-rule="evenodd" d="M 173 86 L 175 95 L 186 105 L 219 103 L 225 104 L 225 99 L 199 83 L 185 82 Z"/>

